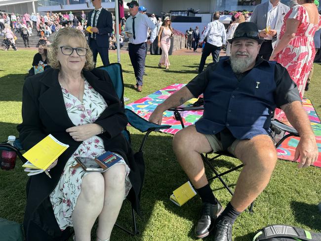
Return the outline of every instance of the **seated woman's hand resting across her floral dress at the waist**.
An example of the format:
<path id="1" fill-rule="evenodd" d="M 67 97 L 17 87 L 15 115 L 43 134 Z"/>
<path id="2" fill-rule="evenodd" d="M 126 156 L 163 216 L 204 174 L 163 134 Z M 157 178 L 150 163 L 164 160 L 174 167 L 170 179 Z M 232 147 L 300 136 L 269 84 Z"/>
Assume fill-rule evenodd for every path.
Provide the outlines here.
<path id="1" fill-rule="evenodd" d="M 66 132 L 75 140 L 75 141 L 84 141 L 94 135 L 101 134 L 102 127 L 98 124 L 83 124 L 79 126 L 73 126 L 66 129 Z"/>

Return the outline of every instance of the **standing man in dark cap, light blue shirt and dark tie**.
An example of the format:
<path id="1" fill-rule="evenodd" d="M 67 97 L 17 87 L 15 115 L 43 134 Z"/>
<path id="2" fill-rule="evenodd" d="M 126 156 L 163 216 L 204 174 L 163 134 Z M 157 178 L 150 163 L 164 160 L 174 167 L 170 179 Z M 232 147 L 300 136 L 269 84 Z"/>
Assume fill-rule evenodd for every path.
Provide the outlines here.
<path id="1" fill-rule="evenodd" d="M 131 15 L 129 18 L 127 18 L 125 25 L 126 35 L 129 37 L 128 53 L 135 72 L 135 88 L 138 92 L 141 92 L 146 59 L 146 48 L 147 44 L 151 44 L 155 40 L 157 28 L 146 14 L 139 12 L 139 5 L 137 1 L 133 0 L 128 2 L 127 6 L 129 7 L 129 12 Z M 147 40 L 148 28 L 151 29 L 150 40 Z"/>

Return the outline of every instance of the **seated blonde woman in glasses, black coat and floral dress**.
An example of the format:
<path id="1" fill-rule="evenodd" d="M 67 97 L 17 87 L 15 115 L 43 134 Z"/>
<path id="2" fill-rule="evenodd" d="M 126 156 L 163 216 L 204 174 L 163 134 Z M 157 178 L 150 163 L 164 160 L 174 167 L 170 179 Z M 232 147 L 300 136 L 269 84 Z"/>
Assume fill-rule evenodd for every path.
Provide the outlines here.
<path id="1" fill-rule="evenodd" d="M 77 241 L 90 241 L 98 218 L 97 241 L 109 241 L 128 192 L 139 212 L 143 170 L 137 163 L 143 160 L 134 160 L 121 133 L 127 125 L 123 104 L 107 72 L 94 68 L 83 34 L 60 29 L 48 57 L 52 68 L 24 84 L 17 129 L 25 150 L 50 133 L 69 148 L 49 167 L 51 179 L 41 173 L 28 181 L 26 240 L 64 240 L 73 226 Z M 107 150 L 121 161 L 106 172 L 71 168 L 75 157 L 95 158 Z"/>

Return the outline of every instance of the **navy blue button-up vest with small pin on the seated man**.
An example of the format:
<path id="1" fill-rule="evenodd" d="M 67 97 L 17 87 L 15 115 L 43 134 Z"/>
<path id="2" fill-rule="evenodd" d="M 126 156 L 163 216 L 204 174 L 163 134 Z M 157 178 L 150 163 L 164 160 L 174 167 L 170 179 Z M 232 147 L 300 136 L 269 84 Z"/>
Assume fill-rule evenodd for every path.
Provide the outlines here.
<path id="1" fill-rule="evenodd" d="M 228 128 L 239 140 L 268 134 L 276 108 L 274 69 L 276 62 L 254 67 L 240 81 L 227 58 L 221 58 L 203 93 L 203 118 L 195 123 L 198 132 L 217 134 Z"/>

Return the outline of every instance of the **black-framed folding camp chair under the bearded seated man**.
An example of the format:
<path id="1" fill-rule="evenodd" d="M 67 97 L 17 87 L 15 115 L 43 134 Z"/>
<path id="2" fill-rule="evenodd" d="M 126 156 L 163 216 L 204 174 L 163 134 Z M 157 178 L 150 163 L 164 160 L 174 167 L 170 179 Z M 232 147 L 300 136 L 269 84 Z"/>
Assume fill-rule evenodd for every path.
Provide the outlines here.
<path id="1" fill-rule="evenodd" d="M 169 109 L 169 111 L 173 111 L 174 112 L 174 116 L 176 121 L 180 121 L 182 127 L 184 128 L 184 121 L 182 119 L 181 116 L 181 112 L 184 111 L 199 111 L 199 110 L 204 110 L 203 106 L 200 107 L 176 107 L 176 108 L 171 108 Z M 270 126 L 272 132 L 271 132 L 271 136 L 274 140 L 274 144 L 275 147 L 278 148 L 281 143 L 288 137 L 290 136 L 299 136 L 299 133 L 293 128 L 290 127 L 288 125 L 283 124 L 282 122 L 276 120 L 276 119 L 272 119 L 271 120 L 271 126 Z M 277 140 L 277 137 L 280 137 L 280 140 Z M 209 166 L 209 168 L 213 171 L 214 175 L 212 177 L 209 177 L 207 180 L 211 181 L 214 180 L 216 178 L 218 178 L 220 180 L 220 182 L 223 184 L 223 186 L 229 191 L 229 193 L 233 196 L 234 192 L 230 189 L 230 187 L 227 185 L 227 183 L 223 180 L 222 176 L 240 169 L 241 167 L 243 167 L 243 164 L 240 164 L 238 166 L 235 166 L 227 171 L 224 171 L 222 173 L 219 173 L 217 171 L 217 169 L 215 169 L 215 167 L 213 166 L 213 164 L 211 163 L 213 160 L 219 158 L 220 156 L 228 156 L 228 157 L 232 157 L 237 159 L 234 155 L 232 155 L 231 153 L 229 153 L 228 151 L 220 151 L 220 152 L 215 152 L 214 153 L 216 156 L 214 156 L 213 158 L 209 158 L 208 154 L 205 153 L 201 154 L 201 158 L 202 160 Z M 251 203 L 250 207 L 249 207 L 249 211 L 252 212 L 253 211 L 253 205 L 254 205 L 254 201 Z"/>

